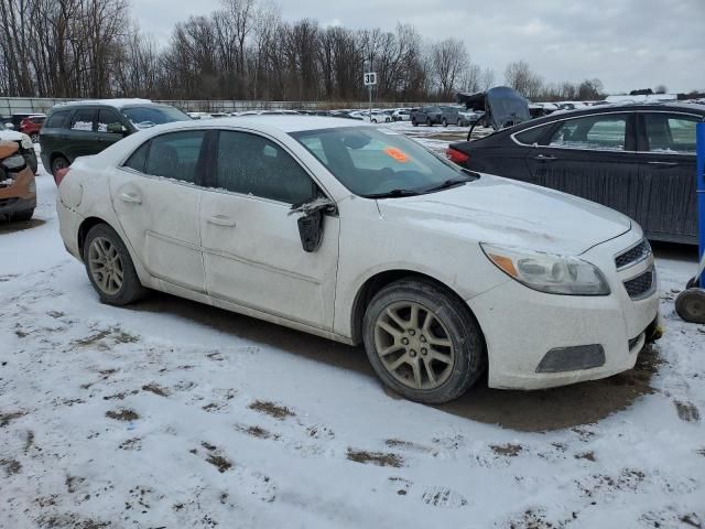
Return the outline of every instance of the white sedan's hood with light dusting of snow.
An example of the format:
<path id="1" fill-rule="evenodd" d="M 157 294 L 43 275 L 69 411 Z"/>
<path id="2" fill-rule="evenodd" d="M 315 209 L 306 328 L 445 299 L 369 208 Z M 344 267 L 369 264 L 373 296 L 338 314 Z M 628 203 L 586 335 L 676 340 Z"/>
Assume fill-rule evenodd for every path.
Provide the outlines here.
<path id="1" fill-rule="evenodd" d="M 498 176 L 440 193 L 378 201 L 386 220 L 480 242 L 581 255 L 631 229 L 599 204 Z"/>

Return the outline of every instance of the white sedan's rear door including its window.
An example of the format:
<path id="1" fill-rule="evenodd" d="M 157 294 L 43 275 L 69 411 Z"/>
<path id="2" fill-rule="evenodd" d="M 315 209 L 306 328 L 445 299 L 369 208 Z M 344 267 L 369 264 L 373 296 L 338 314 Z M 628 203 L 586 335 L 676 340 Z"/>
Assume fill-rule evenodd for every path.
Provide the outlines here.
<path id="1" fill-rule="evenodd" d="M 128 242 L 149 273 L 205 292 L 198 184 L 206 132 L 156 136 L 110 179 L 112 206 Z"/>

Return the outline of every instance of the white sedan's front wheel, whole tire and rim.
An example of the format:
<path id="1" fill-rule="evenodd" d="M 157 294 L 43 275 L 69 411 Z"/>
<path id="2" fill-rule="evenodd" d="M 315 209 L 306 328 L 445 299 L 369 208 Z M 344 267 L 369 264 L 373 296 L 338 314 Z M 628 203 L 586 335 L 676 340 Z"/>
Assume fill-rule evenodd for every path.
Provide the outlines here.
<path id="1" fill-rule="evenodd" d="M 437 404 L 456 399 L 485 370 L 479 325 L 462 301 L 432 282 L 409 278 L 383 288 L 362 325 L 375 371 L 410 400 Z"/>

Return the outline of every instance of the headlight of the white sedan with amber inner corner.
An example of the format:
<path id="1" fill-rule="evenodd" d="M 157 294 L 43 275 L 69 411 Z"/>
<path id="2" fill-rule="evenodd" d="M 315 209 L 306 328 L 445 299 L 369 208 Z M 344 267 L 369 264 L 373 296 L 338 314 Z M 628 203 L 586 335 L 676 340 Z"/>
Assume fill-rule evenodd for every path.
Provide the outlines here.
<path id="1" fill-rule="evenodd" d="M 507 276 L 549 294 L 609 295 L 597 267 L 571 256 L 480 244 L 482 251 Z"/>

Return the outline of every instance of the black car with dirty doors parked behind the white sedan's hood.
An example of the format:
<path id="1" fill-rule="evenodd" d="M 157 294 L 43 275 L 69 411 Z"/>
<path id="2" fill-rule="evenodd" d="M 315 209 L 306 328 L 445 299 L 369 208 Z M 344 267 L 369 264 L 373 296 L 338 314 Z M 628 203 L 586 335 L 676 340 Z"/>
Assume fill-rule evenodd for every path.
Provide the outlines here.
<path id="1" fill-rule="evenodd" d="M 652 240 L 697 244 L 698 121 L 705 121 L 699 105 L 603 105 L 453 143 L 446 154 L 473 171 L 609 206 Z"/>

